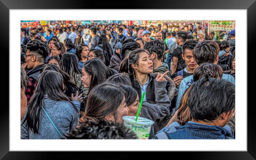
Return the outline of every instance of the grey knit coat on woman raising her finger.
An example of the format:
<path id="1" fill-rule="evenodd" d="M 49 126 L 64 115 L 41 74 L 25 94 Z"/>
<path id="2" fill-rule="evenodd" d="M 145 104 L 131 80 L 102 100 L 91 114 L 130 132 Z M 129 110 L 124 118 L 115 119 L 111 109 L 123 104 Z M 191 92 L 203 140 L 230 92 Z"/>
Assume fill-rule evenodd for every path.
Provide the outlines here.
<path id="1" fill-rule="evenodd" d="M 167 81 L 156 81 L 154 80 L 154 94 L 156 97 L 155 102 L 143 102 L 141 107 L 141 117 L 151 119 L 155 123 L 162 117 L 169 116 L 169 107 L 171 106 L 171 101 L 168 98 L 167 91 L 165 89 Z M 157 126 L 159 124 L 157 123 Z M 155 125 L 152 125 L 149 139 L 152 138 L 156 131 Z"/>

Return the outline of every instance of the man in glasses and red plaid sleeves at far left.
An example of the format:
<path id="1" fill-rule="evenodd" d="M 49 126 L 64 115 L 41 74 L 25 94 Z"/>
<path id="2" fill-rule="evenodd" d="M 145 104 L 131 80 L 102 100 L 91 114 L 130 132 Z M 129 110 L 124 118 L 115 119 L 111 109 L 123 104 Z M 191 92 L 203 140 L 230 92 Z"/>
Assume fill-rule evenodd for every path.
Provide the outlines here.
<path id="1" fill-rule="evenodd" d="M 33 41 L 27 44 L 26 49 L 27 68 L 31 69 L 27 73 L 29 84 L 25 93 L 29 101 L 34 93 L 40 70 L 44 66 L 44 60 L 49 54 L 49 48 L 43 42 Z"/>

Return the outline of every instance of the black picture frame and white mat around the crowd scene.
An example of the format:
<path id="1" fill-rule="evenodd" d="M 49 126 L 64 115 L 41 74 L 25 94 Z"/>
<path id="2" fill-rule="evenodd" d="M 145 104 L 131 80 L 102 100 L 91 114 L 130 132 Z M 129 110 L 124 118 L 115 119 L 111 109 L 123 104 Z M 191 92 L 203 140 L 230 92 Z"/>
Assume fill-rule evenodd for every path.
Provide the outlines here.
<path id="1" fill-rule="evenodd" d="M 122 7 L 120 7 L 122 5 Z M 0 158 L 3 159 L 49 159 L 52 155 L 75 158 L 77 155 L 87 153 L 74 151 L 119 151 L 114 153 L 117 159 L 133 158 L 133 153 L 123 151 L 173 151 L 172 153 L 157 152 L 154 154 L 167 156 L 177 151 L 185 151 L 182 156 L 189 159 L 255 159 L 255 118 L 252 95 L 247 86 L 254 84 L 247 81 L 247 75 L 253 75 L 253 68 L 247 64 L 254 64 L 255 42 L 255 0 L 247 1 L 146 1 L 136 2 L 120 1 L 8 1 L 1 0 L 1 44 L 3 54 L 4 77 L 9 77 L 9 103 L 3 105 L 1 114 L 1 147 Z M 21 21 L 234 21 L 237 30 L 237 133 L 233 141 L 220 140 L 21 140 L 19 112 L 19 52 Z M 44 22 L 41 22 L 44 23 Z M 81 22 L 82 23 L 82 22 Z M 175 23 L 176 24 L 176 23 Z M 178 23 L 177 23 L 178 25 Z M 231 27 L 231 24 L 228 24 Z M 233 23 L 232 23 L 233 25 Z M 209 30 L 210 32 L 210 30 Z M 18 46 L 17 46 L 18 45 Z M 8 47 L 9 46 L 9 47 Z M 248 48 L 248 49 L 247 49 Z M 253 50 L 252 50 L 253 49 Z M 9 54 L 7 54 L 9 53 Z M 247 54 L 249 53 L 249 54 Z M 248 58 L 247 58 L 248 56 Z M 252 57 L 251 57 L 252 56 Z M 7 60 L 9 60 L 9 73 L 7 73 Z M 16 76 L 15 76 L 16 75 Z M 6 84 L 6 79 L 4 80 Z M 7 85 L 3 85 L 6 86 Z M 252 90 L 253 87 L 248 87 Z M 7 89 L 6 89 L 7 90 Z M 4 91 L 4 89 L 3 89 Z M 7 98 L 3 98 L 5 100 Z M 247 101 L 248 100 L 248 101 Z M 15 111 L 15 108 L 16 111 Z M 17 118 L 18 117 L 18 118 Z M 84 145 L 82 145 L 83 143 Z M 23 152 L 25 151 L 25 152 Z M 55 151 L 55 152 L 53 152 Z M 65 151 L 65 152 L 59 152 Z M 72 151 L 72 152 L 67 152 Z M 175 152 L 174 152 L 175 151 Z M 190 152 L 196 151 L 196 152 Z M 214 151 L 214 152 L 211 152 Z M 99 157 L 113 156 L 112 152 L 102 152 L 92 155 Z M 75 155 L 74 157 L 72 155 Z M 140 153 L 139 153 L 140 155 Z M 136 155 L 137 156 L 137 155 Z M 119 158 L 120 157 L 120 158 Z M 168 156 L 169 157 L 169 156 Z M 95 158 L 96 159 L 96 158 Z"/>

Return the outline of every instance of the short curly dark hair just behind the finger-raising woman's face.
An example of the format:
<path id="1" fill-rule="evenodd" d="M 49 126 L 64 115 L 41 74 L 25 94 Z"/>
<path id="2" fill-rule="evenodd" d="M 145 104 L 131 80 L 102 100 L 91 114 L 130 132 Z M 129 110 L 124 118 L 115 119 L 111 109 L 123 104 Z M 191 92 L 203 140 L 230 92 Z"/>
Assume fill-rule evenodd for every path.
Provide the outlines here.
<path id="1" fill-rule="evenodd" d="M 144 45 L 144 49 L 146 49 L 149 54 L 151 55 L 153 52 L 155 52 L 157 54 L 157 59 L 162 59 L 163 55 L 164 55 L 164 50 L 166 43 L 162 40 L 152 40 L 149 42 L 146 42 L 146 44 Z"/>

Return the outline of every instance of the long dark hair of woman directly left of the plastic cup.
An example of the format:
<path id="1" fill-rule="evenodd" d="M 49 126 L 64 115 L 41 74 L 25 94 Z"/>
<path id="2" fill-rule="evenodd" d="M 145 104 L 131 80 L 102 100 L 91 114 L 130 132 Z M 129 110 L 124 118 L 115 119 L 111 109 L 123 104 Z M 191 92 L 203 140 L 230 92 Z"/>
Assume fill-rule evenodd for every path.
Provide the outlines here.
<path id="1" fill-rule="evenodd" d="M 110 114 L 117 120 L 117 108 L 125 96 L 125 91 L 113 83 L 105 82 L 93 87 L 88 94 L 86 111 L 82 113 L 79 123 L 87 122 L 88 119 L 104 119 Z"/>

